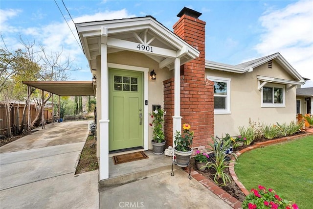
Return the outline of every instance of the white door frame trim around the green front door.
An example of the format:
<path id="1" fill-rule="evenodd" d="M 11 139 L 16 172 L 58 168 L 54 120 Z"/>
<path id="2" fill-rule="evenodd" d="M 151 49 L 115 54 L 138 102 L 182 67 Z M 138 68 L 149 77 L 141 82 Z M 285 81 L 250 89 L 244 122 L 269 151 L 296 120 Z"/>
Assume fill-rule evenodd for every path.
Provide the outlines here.
<path id="1" fill-rule="evenodd" d="M 115 63 L 108 63 L 108 68 L 115 68 L 121 70 L 133 70 L 143 72 L 143 148 L 144 150 L 149 149 L 148 140 L 148 105 L 145 105 L 145 100 L 148 100 L 148 72 L 149 68 L 142 68 L 130 65 L 120 65 Z M 107 95 L 109 98 L 109 94 Z"/>

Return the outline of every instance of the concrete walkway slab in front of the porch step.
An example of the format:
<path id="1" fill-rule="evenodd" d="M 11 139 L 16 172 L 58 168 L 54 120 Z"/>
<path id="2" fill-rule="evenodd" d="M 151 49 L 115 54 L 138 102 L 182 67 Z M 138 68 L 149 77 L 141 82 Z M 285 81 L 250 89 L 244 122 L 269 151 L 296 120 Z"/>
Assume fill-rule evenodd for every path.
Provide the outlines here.
<path id="1" fill-rule="evenodd" d="M 231 209 L 182 169 L 100 191 L 100 209 L 109 208 Z"/>

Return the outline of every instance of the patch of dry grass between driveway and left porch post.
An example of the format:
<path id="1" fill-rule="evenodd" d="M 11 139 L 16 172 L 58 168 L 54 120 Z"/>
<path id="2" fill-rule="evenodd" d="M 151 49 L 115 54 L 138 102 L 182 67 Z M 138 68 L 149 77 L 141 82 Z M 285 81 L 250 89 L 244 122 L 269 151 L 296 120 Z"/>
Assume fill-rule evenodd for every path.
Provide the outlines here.
<path id="1" fill-rule="evenodd" d="M 96 149 L 96 146 L 92 144 L 93 144 L 93 136 L 89 136 L 86 139 L 84 148 L 80 155 L 80 159 L 76 167 L 75 175 L 99 169 L 98 159 L 96 156 L 97 149 Z"/>

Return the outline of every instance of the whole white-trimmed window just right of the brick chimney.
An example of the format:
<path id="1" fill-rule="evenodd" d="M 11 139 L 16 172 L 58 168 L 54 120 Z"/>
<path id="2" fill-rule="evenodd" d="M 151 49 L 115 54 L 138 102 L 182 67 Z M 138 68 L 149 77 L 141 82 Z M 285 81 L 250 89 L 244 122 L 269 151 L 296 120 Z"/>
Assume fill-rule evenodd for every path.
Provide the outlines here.
<path id="1" fill-rule="evenodd" d="M 214 81 L 214 114 L 230 114 L 230 78 L 207 78 Z"/>

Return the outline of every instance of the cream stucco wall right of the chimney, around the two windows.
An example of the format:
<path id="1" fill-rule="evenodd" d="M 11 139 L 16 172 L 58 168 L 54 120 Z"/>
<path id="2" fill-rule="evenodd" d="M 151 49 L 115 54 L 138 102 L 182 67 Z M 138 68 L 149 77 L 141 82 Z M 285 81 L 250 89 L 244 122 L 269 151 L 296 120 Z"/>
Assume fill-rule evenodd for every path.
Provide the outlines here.
<path id="1" fill-rule="evenodd" d="M 282 123 L 295 120 L 295 87 L 285 92 L 286 107 L 261 107 L 261 91 L 258 90 L 257 75 L 293 80 L 291 76 L 273 61 L 272 69 L 268 64 L 244 74 L 206 69 L 205 75 L 230 78 L 230 114 L 214 116 L 215 135 L 239 135 L 238 126 L 247 126 L 249 117 L 255 122 Z M 286 87 L 285 87 L 286 88 Z M 287 88 L 285 89 L 287 90 Z"/>

